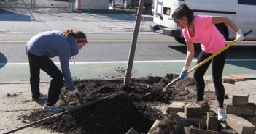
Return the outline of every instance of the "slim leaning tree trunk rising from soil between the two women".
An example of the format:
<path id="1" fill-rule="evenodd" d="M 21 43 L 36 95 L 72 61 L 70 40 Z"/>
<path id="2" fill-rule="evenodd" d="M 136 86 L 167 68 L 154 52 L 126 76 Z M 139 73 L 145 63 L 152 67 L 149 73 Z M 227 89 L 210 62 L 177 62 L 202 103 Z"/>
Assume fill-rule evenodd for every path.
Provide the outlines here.
<path id="1" fill-rule="evenodd" d="M 133 61 L 134 61 L 134 54 L 135 54 L 135 49 L 136 49 L 136 43 L 137 43 L 137 38 L 138 38 L 138 33 L 139 33 L 139 26 L 141 22 L 141 14 L 143 11 L 144 7 L 144 0 L 139 1 L 139 9 L 137 12 L 137 17 L 136 17 L 136 23 L 135 23 L 135 28 L 133 31 L 133 40 L 131 41 L 131 49 L 130 49 L 130 54 L 128 58 L 128 64 L 127 68 L 125 70 L 125 80 L 124 84 L 125 86 L 130 86 L 131 83 L 131 71 L 133 70 Z"/>

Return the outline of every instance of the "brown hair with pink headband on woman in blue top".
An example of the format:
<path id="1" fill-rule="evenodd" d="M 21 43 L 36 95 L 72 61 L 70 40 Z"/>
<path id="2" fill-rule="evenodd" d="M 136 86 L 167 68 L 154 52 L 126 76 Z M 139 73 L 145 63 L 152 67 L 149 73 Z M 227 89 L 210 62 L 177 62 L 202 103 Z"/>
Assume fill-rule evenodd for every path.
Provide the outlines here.
<path id="1" fill-rule="evenodd" d="M 81 31 L 74 32 L 72 29 L 65 29 L 63 30 L 63 34 L 66 38 L 73 37 L 77 39 L 78 43 L 87 43 L 86 35 Z"/>

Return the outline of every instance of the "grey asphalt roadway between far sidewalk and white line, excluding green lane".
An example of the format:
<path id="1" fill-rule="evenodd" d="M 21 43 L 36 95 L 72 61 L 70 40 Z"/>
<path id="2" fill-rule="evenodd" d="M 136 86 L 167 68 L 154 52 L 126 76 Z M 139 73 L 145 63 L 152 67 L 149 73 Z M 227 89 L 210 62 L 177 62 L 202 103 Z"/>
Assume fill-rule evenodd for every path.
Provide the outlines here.
<path id="1" fill-rule="evenodd" d="M 15 35 L 15 34 L 14 34 Z M 75 62 L 111 62 L 128 59 L 132 33 L 88 33 L 88 44 L 74 56 Z M 16 36 L 21 36 L 16 35 Z M 8 63 L 26 63 L 26 41 L 31 34 L 23 34 L 23 38 L 0 41 L 1 53 Z M 195 46 L 195 59 L 200 52 L 200 46 Z M 256 59 L 254 41 L 237 43 L 227 50 L 227 59 Z M 165 35 L 144 32 L 139 34 L 136 45 L 135 61 L 184 60 L 186 46 Z M 58 58 L 53 58 L 58 62 Z M 0 61 L 1 62 L 1 61 Z M 3 63 L 3 62 L 2 62 Z"/>

